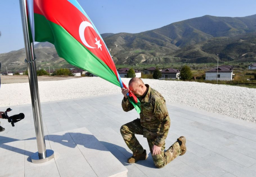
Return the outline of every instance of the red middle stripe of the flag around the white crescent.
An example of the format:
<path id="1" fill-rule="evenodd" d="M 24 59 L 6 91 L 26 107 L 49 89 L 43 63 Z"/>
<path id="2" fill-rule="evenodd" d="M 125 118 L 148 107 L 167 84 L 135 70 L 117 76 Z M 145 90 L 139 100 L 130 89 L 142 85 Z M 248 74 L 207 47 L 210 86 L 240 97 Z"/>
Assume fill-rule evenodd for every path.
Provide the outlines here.
<path id="1" fill-rule="evenodd" d="M 56 23 L 67 30 L 69 34 L 80 42 L 80 44 L 85 46 L 108 65 L 119 81 L 116 66 L 112 57 L 109 55 L 108 49 L 105 47 L 105 44 L 99 35 L 91 27 L 86 27 L 84 36 L 87 44 L 94 48 L 89 48 L 82 42 L 79 35 L 79 26 L 84 21 L 91 22 L 73 4 L 67 0 L 34 0 L 34 13 L 44 15 L 47 20 Z M 99 45 L 95 44 L 95 38 L 97 38 L 97 41 L 101 44 L 102 50 L 98 48 Z"/>

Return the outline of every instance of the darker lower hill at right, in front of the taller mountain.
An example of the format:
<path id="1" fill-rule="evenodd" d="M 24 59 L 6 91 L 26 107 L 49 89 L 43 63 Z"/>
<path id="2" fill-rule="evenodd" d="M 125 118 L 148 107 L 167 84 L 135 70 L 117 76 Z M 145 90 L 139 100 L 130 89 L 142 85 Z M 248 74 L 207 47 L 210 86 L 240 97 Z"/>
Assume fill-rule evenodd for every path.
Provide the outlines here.
<path id="1" fill-rule="evenodd" d="M 236 37 L 216 37 L 207 41 L 177 50 L 170 55 L 179 57 L 187 63 L 220 61 L 254 62 L 256 61 L 256 33 Z"/>

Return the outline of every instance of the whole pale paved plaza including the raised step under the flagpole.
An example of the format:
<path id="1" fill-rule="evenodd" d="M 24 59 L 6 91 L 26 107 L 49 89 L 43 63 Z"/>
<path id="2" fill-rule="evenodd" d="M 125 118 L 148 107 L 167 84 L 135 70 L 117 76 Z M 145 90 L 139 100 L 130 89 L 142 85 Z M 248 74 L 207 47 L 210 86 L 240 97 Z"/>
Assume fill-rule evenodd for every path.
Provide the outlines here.
<path id="1" fill-rule="evenodd" d="M 0 132 L 0 176 L 256 176 L 255 123 L 171 102 L 166 102 L 171 119 L 166 148 L 185 136 L 186 154 L 157 169 L 146 138 L 136 135 L 148 158 L 128 164 L 132 153 L 120 127 L 139 114 L 124 112 L 122 98 L 120 93 L 41 103 L 46 148 L 55 154 L 41 164 L 30 159 L 37 151 L 32 106 L 10 106 L 9 116 L 22 112 L 25 118 L 15 127 L 1 120 L 5 131 Z"/>

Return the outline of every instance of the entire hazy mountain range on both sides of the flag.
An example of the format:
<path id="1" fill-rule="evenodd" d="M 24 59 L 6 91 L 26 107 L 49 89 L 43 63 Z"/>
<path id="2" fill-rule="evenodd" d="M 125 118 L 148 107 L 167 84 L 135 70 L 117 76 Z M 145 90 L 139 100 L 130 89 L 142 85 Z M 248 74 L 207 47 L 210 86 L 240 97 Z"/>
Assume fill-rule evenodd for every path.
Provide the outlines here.
<path id="1" fill-rule="evenodd" d="M 256 14 L 205 15 L 141 33 L 101 34 L 116 64 L 212 63 L 256 61 Z M 68 67 L 48 42 L 34 45 L 37 66 Z M 13 69 L 26 68 L 24 49 L 0 54 Z"/>

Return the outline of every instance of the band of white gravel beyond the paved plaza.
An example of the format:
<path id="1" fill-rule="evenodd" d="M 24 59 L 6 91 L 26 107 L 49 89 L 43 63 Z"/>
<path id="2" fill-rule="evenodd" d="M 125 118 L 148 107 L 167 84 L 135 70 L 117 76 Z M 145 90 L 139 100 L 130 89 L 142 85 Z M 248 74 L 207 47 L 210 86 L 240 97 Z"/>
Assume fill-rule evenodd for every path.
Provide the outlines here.
<path id="1" fill-rule="evenodd" d="M 143 79 L 166 101 L 256 123 L 256 89 L 197 82 Z M 129 79 L 123 78 L 128 85 Z M 41 102 L 120 93 L 101 78 L 38 82 Z M 1 84 L 0 107 L 31 103 L 29 83 Z"/>

